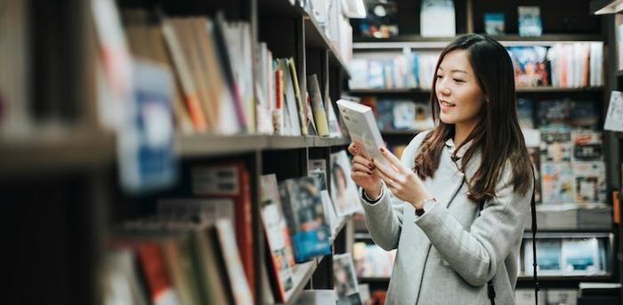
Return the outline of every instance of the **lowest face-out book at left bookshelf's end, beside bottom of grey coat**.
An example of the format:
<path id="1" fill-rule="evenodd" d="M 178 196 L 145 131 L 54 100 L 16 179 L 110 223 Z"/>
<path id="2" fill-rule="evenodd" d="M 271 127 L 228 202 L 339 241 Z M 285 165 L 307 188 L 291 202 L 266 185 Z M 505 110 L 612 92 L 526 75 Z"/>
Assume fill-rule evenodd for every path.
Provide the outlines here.
<path id="1" fill-rule="evenodd" d="M 333 277 L 338 302 L 352 294 L 359 296 L 359 285 L 351 253 L 333 255 Z"/>

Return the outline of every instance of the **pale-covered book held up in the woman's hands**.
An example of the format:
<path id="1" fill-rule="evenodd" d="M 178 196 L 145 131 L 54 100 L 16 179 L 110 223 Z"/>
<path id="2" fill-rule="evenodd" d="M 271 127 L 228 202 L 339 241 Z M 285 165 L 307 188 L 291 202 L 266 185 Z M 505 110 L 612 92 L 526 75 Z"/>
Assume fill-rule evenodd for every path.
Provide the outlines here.
<path id="1" fill-rule="evenodd" d="M 384 147 L 384 141 L 376 126 L 372 108 L 350 100 L 337 100 L 337 107 L 348 128 L 351 140 L 360 144 L 367 157 L 373 157 L 380 162 L 385 161 L 379 148 Z"/>

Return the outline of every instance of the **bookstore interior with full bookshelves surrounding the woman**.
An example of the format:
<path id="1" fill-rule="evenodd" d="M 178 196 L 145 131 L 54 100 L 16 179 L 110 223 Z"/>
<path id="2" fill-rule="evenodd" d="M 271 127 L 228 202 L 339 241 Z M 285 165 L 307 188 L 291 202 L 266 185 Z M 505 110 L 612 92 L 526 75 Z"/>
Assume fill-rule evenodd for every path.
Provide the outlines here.
<path id="1" fill-rule="evenodd" d="M 347 148 L 435 128 L 471 33 L 537 174 L 516 304 L 623 304 L 622 0 L 2 0 L 2 303 L 384 304 Z"/>

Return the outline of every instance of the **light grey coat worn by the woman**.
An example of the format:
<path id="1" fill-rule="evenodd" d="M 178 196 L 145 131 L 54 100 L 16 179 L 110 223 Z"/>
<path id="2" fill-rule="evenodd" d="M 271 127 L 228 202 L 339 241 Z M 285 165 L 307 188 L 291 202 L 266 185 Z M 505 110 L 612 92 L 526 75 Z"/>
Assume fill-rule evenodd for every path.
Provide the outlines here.
<path id="1" fill-rule="evenodd" d="M 425 132 L 404 149 L 402 164 L 413 168 Z M 462 156 L 467 145 L 457 152 Z M 484 205 L 467 198 L 464 173 L 455 164 L 452 140 L 446 142 L 437 172 L 424 181 L 437 203 L 425 205 L 418 217 L 412 205 L 393 197 L 384 186 L 375 204 L 361 200 L 366 224 L 376 245 L 398 249 L 387 304 L 489 304 L 487 282 L 493 278 L 496 304 L 514 304 L 522 233 L 529 221 L 530 191 L 514 193 L 507 182 L 510 164 L 498 182 L 497 195 Z M 476 154 L 465 173 L 480 165 Z M 531 186 L 530 186 L 531 189 Z"/>

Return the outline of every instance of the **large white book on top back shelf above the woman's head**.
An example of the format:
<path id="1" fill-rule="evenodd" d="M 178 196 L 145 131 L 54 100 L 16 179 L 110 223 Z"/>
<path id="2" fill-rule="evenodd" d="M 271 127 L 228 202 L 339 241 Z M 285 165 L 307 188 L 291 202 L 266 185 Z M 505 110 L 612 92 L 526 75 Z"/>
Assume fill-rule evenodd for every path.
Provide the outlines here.
<path id="1" fill-rule="evenodd" d="M 454 1 L 423 0 L 420 9 L 420 35 L 423 37 L 456 36 Z"/>

